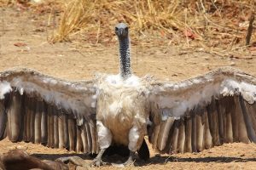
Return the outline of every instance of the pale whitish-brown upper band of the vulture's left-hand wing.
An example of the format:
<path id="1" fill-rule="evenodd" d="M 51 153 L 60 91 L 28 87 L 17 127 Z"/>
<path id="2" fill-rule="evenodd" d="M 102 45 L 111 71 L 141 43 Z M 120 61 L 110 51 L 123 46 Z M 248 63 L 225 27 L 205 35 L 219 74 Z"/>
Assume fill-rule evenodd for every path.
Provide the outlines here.
<path id="1" fill-rule="evenodd" d="M 68 82 L 28 69 L 14 69 L 0 73 L 0 98 L 10 91 L 26 93 L 58 109 L 72 111 L 76 116 L 90 116 L 95 112 L 96 88 L 93 82 Z"/>

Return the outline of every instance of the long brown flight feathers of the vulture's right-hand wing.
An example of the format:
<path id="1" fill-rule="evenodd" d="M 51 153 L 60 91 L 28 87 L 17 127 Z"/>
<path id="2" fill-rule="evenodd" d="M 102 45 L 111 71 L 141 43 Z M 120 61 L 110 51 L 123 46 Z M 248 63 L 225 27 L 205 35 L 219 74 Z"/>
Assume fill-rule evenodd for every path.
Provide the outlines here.
<path id="1" fill-rule="evenodd" d="M 251 141 L 255 143 L 256 112 L 253 110 L 253 107 L 256 103 L 250 105 L 241 96 L 224 97 L 223 99 L 214 100 L 209 105 L 214 103 L 218 107 L 223 107 L 223 111 L 218 112 L 217 107 L 214 107 L 216 111 L 207 112 L 209 105 L 200 111 L 196 109 L 195 111 L 190 111 L 190 116 L 187 115 L 172 123 L 168 133 L 169 139 L 160 139 L 168 147 L 165 150 L 161 150 L 161 145 L 156 144 L 156 149 L 160 150 L 161 153 L 171 154 L 177 152 L 197 152 L 231 142 L 248 143 Z M 230 108 L 229 101 L 231 103 L 234 102 L 234 109 Z M 232 122 L 232 116 L 234 116 L 233 120 L 236 120 L 236 122 Z M 212 117 L 212 130 L 209 126 L 211 122 L 209 117 Z M 219 127 L 216 121 L 222 121 L 222 127 Z M 166 126 L 166 122 L 161 124 Z M 223 130 L 220 130 L 220 128 Z M 233 129 L 238 130 L 238 132 L 236 133 Z M 162 137 L 163 134 L 160 132 L 158 132 L 158 136 Z"/>

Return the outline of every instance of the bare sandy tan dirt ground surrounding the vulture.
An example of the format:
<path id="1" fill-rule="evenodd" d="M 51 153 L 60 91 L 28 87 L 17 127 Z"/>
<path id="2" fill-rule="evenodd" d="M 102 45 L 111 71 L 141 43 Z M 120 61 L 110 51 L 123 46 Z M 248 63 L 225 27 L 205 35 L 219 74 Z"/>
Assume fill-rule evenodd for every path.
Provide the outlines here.
<path id="1" fill-rule="evenodd" d="M 47 37 L 52 34 L 52 30 L 47 24 L 47 14 L 0 8 L 0 71 L 16 66 L 29 67 L 68 80 L 90 79 L 96 72 L 119 71 L 117 42 L 92 44 L 80 40 L 50 44 Z M 145 45 L 143 42 L 131 42 L 131 45 L 133 72 L 138 76 L 150 74 L 160 80 L 178 81 L 225 65 L 256 76 L 256 52 L 249 56 L 230 58 L 193 52 L 189 48 L 171 47 L 165 43 L 151 42 Z M 8 139 L 0 142 L 0 153 L 17 146 L 42 159 L 74 154 L 40 144 L 12 144 Z M 255 144 L 224 144 L 201 153 L 172 156 L 159 156 L 153 150 L 150 151 L 149 161 L 137 161 L 137 166 L 127 169 L 256 169 Z M 85 159 L 90 162 L 89 158 Z"/>

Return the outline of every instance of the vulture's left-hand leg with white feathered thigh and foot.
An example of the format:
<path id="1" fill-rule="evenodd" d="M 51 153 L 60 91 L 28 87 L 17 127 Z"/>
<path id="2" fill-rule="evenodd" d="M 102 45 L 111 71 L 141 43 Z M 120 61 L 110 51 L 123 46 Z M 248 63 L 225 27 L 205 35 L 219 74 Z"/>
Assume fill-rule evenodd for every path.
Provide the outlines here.
<path id="1" fill-rule="evenodd" d="M 96 156 L 96 158 L 91 162 L 91 166 L 100 167 L 101 165 L 105 165 L 106 162 L 102 161 L 102 155 L 105 150 L 112 143 L 112 133 L 110 130 L 103 125 L 102 122 L 96 122 L 97 134 L 98 134 L 98 143 L 100 146 L 100 152 Z"/>

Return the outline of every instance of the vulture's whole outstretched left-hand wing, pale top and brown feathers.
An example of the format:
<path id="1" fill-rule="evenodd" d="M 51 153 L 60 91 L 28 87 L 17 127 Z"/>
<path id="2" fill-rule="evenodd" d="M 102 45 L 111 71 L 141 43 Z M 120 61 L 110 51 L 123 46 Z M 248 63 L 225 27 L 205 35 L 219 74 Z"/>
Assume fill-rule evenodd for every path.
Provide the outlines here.
<path id="1" fill-rule="evenodd" d="M 94 82 L 67 82 L 38 71 L 0 73 L 0 139 L 96 153 Z"/>

